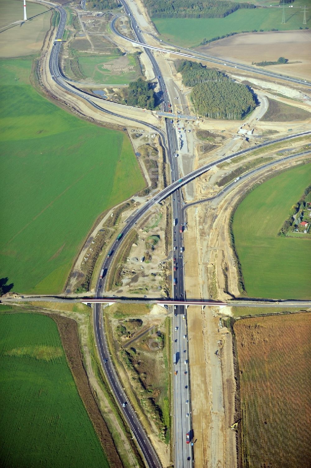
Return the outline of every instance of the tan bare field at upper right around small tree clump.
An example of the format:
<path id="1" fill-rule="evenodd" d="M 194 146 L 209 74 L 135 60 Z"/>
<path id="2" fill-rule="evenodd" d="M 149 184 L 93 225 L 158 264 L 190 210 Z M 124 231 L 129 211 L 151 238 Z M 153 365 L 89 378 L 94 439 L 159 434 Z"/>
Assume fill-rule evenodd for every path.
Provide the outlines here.
<path id="1" fill-rule="evenodd" d="M 197 47 L 196 50 L 227 60 L 238 60 L 248 65 L 252 62 L 275 61 L 279 57 L 285 57 L 289 60 L 287 64 L 264 68 L 307 79 L 311 78 L 310 44 L 310 30 L 271 31 L 226 37 Z"/>

